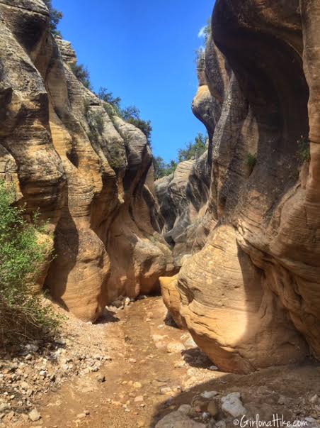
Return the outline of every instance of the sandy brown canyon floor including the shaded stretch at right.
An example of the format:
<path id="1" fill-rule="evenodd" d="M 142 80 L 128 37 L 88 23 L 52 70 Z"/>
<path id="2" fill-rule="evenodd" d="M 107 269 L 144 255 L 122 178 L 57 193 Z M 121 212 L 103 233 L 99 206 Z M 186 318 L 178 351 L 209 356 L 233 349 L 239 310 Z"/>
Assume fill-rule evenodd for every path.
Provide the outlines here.
<path id="1" fill-rule="evenodd" d="M 91 356 L 108 351 L 108 356 L 97 370 L 73 375 L 40 395 L 34 402 L 40 420 L 31 422 L 26 415 L 22 423 L 4 418 L 4 426 L 147 428 L 188 404 L 193 406 L 193 419 L 209 427 L 208 414 L 200 410 L 205 391 L 216 391 L 218 397 L 239 392 L 251 414 L 266 420 L 277 413 L 287 420 L 320 419 L 312 404 L 320 395 L 319 364 L 310 361 L 250 375 L 222 373 L 188 332 L 165 319 L 161 297 L 107 311 L 96 325 L 69 317 L 67 346 Z"/>

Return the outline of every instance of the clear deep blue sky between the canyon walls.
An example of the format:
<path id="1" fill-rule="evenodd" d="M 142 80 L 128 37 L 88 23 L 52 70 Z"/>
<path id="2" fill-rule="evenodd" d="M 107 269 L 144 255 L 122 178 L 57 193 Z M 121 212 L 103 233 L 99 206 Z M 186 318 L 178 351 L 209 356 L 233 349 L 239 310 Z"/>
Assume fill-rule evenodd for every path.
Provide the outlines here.
<path id="1" fill-rule="evenodd" d="M 152 121 L 152 147 L 166 161 L 205 128 L 192 114 L 198 87 L 195 50 L 214 0 L 53 0 L 59 29 L 107 87 Z"/>

